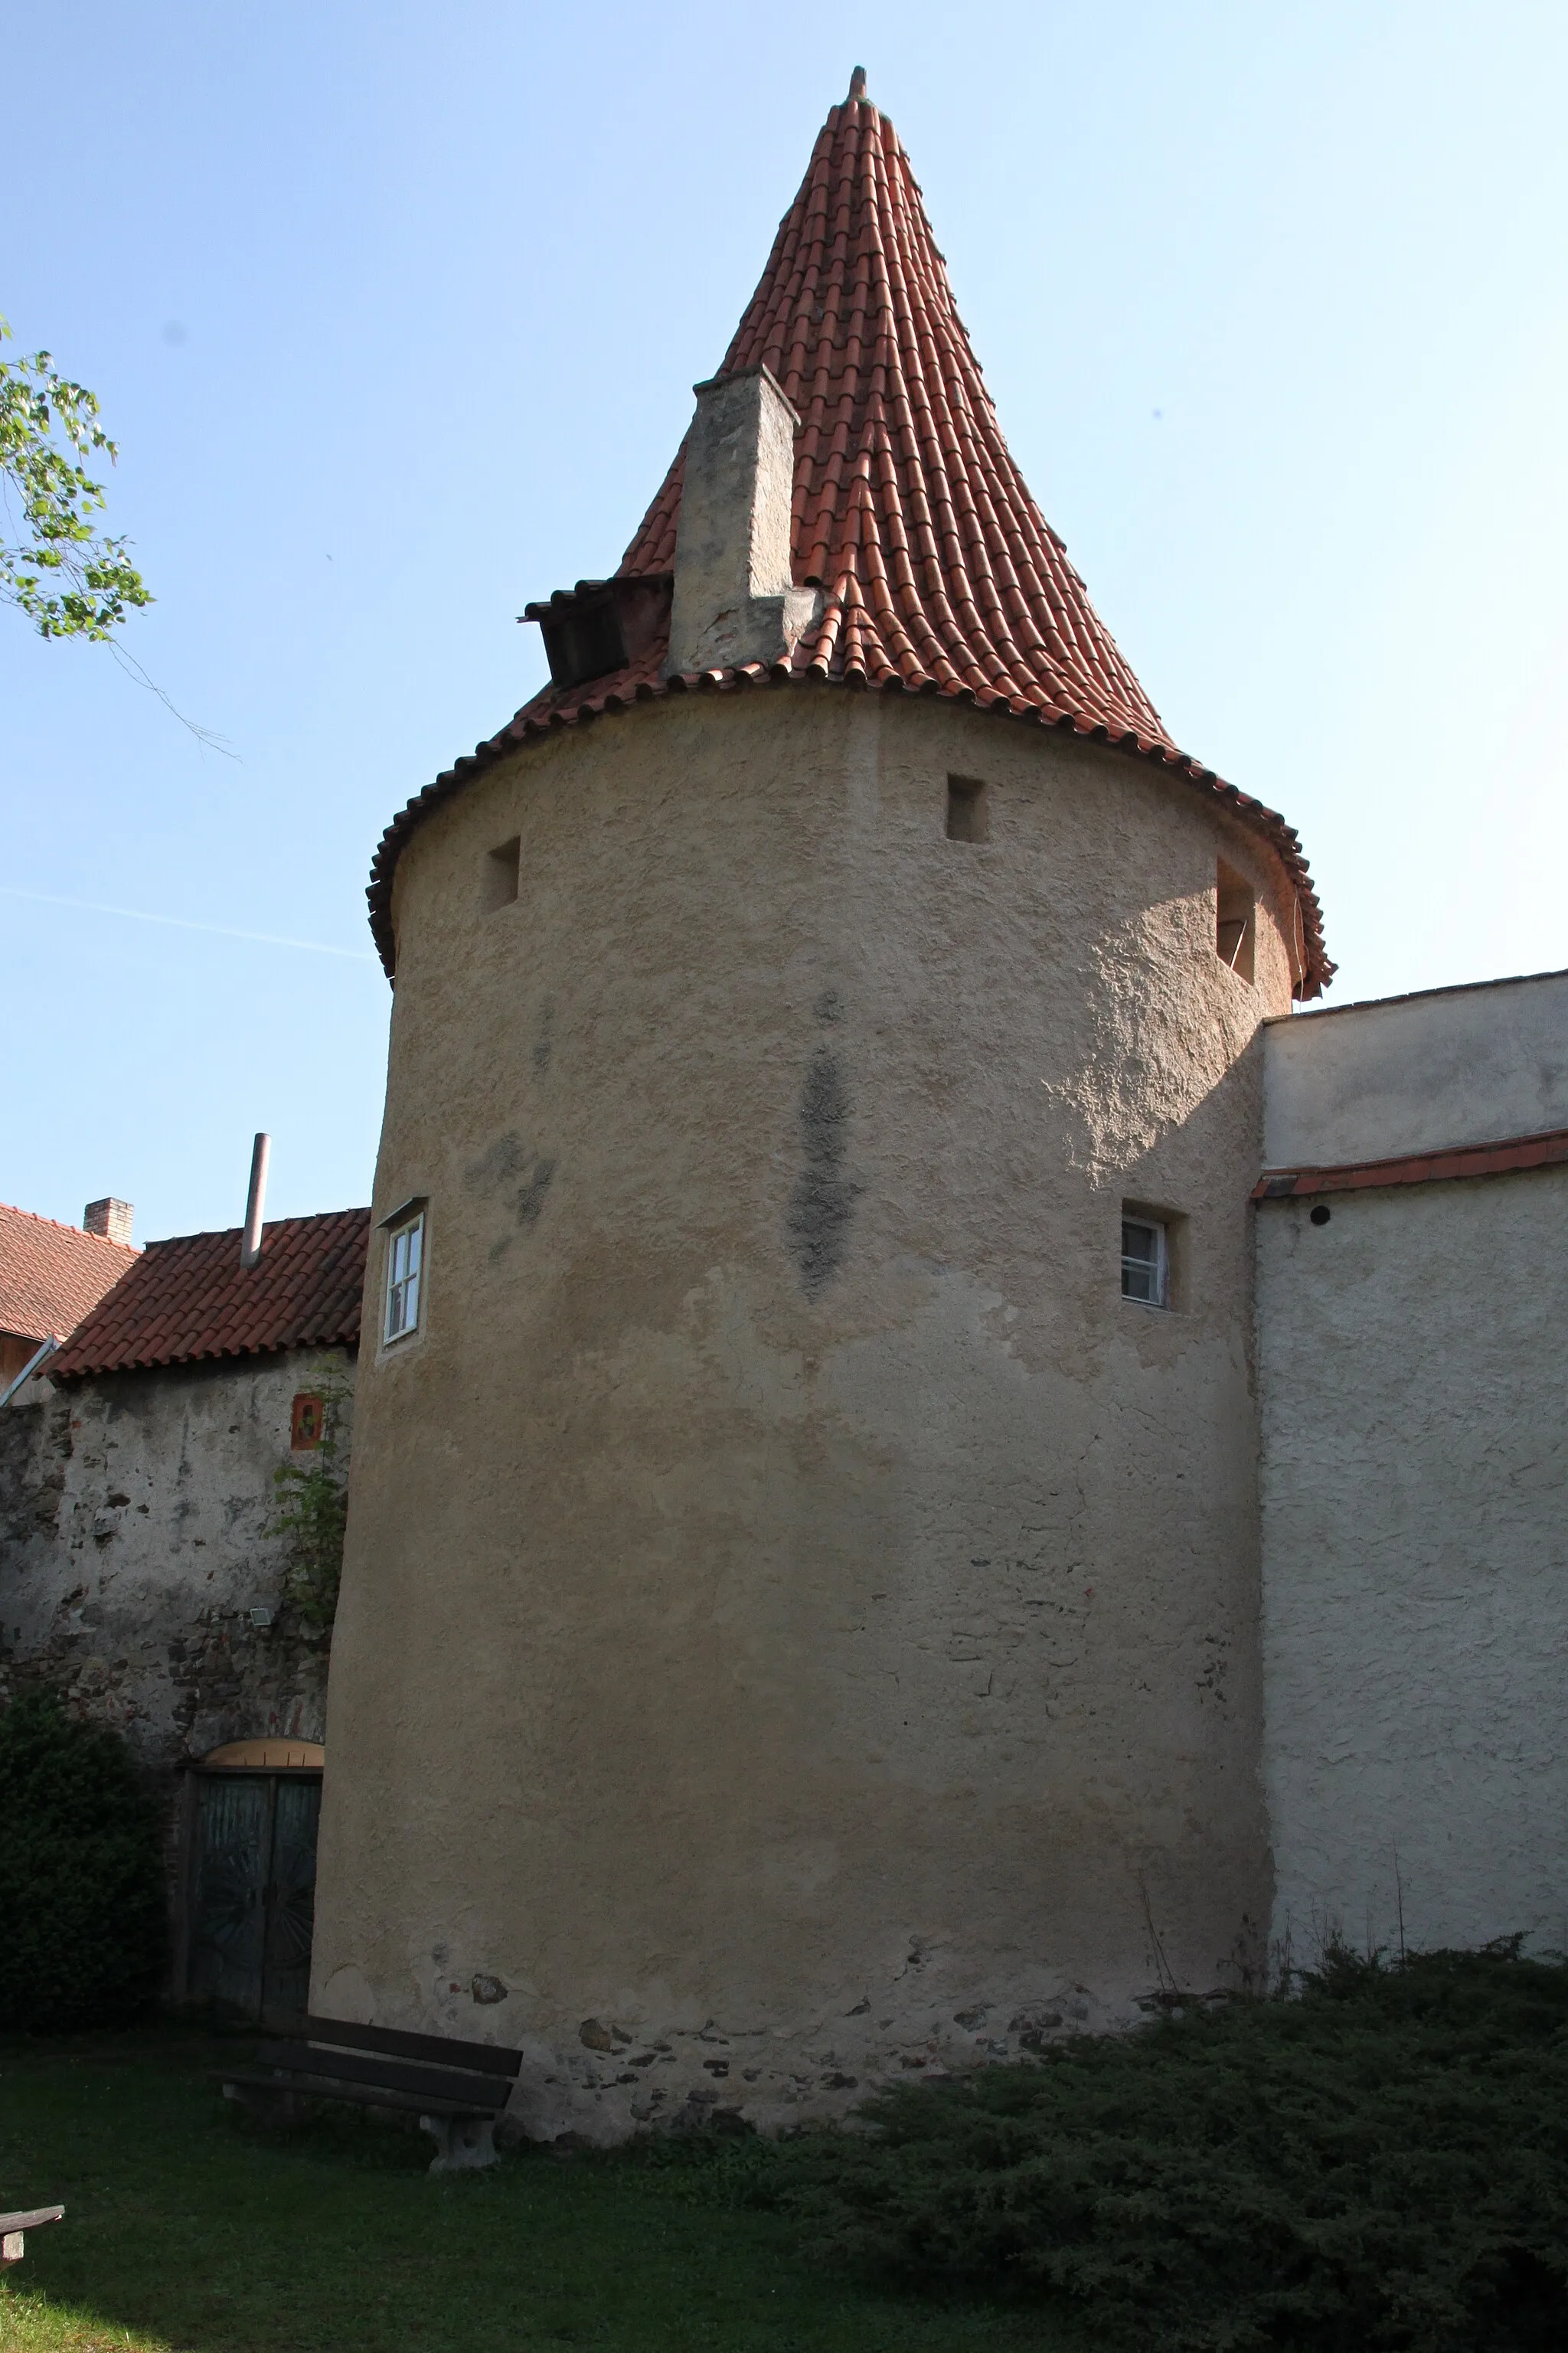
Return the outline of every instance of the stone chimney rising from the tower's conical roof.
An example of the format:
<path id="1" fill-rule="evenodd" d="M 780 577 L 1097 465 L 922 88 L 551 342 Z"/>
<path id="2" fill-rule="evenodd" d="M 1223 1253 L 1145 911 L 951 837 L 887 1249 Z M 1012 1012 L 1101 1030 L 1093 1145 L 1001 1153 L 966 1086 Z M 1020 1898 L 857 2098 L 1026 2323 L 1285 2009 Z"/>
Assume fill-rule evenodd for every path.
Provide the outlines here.
<path id="1" fill-rule="evenodd" d="M 713 376 L 695 393 L 666 678 L 784 661 L 822 609 L 791 569 L 800 419 L 765 367 Z"/>

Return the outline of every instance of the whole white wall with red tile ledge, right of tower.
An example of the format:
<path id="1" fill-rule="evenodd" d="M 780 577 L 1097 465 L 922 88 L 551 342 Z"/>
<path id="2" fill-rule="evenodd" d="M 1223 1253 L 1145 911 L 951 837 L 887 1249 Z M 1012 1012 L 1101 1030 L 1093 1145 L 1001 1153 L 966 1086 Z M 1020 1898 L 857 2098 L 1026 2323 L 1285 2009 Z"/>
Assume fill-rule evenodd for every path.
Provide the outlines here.
<path id="1" fill-rule="evenodd" d="M 1568 1948 L 1568 974 L 1264 1028 L 1276 1948 Z"/>

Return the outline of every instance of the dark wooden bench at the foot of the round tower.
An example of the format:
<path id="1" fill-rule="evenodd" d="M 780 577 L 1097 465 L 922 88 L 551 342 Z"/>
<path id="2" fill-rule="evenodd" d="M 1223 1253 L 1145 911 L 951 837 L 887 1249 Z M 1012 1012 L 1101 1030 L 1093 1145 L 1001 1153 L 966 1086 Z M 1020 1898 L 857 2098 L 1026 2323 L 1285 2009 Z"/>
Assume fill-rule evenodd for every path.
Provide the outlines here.
<path id="1" fill-rule="evenodd" d="M 494 2120 L 511 2099 L 523 2052 L 454 2035 L 405 2035 L 396 2026 L 306 2019 L 304 2033 L 261 2042 L 257 2066 L 224 2073 L 224 2099 L 268 2125 L 287 2125 L 306 2099 L 403 2108 L 436 2141 L 433 2174 L 494 2165 Z"/>

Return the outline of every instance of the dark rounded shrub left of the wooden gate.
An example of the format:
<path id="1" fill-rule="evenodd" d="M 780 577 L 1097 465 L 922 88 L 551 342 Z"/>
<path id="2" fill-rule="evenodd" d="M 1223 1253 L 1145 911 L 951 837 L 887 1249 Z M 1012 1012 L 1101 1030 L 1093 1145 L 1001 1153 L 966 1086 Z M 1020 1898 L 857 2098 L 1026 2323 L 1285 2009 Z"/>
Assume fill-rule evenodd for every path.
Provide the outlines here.
<path id="1" fill-rule="evenodd" d="M 158 1807 L 125 1741 L 24 1692 L 0 1715 L 0 2028 L 139 2017 L 165 1939 Z"/>

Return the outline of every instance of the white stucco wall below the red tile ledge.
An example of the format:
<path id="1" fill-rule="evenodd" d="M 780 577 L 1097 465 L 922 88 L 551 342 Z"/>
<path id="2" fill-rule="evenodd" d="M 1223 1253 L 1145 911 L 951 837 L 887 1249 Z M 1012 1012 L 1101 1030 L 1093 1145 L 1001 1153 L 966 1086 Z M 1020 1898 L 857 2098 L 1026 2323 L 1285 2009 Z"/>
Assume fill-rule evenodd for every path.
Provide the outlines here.
<path id="1" fill-rule="evenodd" d="M 1563 1948 L 1568 1169 L 1328 1209 L 1257 1209 L 1274 1937 Z"/>

